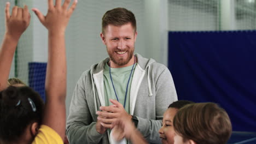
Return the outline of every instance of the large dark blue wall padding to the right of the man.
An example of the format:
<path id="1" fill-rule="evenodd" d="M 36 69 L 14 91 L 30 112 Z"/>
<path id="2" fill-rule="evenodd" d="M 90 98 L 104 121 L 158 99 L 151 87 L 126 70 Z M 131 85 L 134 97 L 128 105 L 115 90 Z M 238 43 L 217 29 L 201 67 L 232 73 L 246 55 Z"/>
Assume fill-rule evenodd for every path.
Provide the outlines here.
<path id="1" fill-rule="evenodd" d="M 168 68 L 179 100 L 218 103 L 234 131 L 256 131 L 256 31 L 169 32 Z"/>

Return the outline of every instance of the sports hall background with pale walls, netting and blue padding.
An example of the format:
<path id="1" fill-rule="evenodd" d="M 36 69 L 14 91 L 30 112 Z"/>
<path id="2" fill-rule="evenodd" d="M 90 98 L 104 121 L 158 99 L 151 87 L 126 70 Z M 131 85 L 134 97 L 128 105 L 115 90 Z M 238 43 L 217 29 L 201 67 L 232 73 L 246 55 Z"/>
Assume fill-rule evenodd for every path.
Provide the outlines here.
<path id="1" fill-rule="evenodd" d="M 1 40 L 6 2 L 0 1 Z M 11 6 L 27 4 L 30 11 L 47 11 L 46 0 L 9 2 Z M 108 56 L 100 39 L 101 18 L 116 7 L 135 14 L 135 52 L 170 69 L 179 99 L 218 103 L 228 111 L 233 125 L 229 143 L 256 143 L 255 0 L 78 1 L 66 30 L 67 115 L 80 75 Z M 32 11 L 31 16 L 10 77 L 20 78 L 44 97 L 48 35 Z"/>

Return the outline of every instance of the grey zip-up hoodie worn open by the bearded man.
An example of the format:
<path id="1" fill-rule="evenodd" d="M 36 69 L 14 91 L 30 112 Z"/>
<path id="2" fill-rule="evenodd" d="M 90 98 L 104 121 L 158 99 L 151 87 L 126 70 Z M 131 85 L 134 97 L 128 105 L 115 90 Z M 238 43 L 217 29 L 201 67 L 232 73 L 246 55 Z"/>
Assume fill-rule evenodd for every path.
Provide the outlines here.
<path id="1" fill-rule="evenodd" d="M 161 143 L 159 129 L 168 105 L 177 100 L 170 71 L 154 59 L 136 54 L 137 66 L 130 89 L 130 114 L 149 143 Z M 96 111 L 105 105 L 103 67 L 109 58 L 86 70 L 77 82 L 67 119 L 70 143 L 109 143 L 107 132 L 97 133 Z"/>

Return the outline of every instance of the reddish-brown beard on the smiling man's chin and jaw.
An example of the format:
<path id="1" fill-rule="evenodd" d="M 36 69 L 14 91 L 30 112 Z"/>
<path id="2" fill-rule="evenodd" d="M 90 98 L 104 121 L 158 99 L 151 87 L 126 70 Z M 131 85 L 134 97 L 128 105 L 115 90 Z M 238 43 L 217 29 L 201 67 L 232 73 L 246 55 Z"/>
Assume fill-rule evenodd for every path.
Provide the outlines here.
<path id="1" fill-rule="evenodd" d="M 124 59 L 123 57 L 117 57 L 117 56 L 114 56 L 113 55 L 113 52 L 109 52 L 108 49 L 107 49 L 107 52 L 108 52 L 108 55 L 110 57 L 110 60 L 112 62 L 114 62 L 115 64 L 119 65 L 119 66 L 123 66 L 127 63 L 130 62 L 132 56 L 133 56 L 133 52 L 134 52 L 134 49 L 131 50 L 131 51 L 127 51 L 128 53 L 128 58 Z"/>

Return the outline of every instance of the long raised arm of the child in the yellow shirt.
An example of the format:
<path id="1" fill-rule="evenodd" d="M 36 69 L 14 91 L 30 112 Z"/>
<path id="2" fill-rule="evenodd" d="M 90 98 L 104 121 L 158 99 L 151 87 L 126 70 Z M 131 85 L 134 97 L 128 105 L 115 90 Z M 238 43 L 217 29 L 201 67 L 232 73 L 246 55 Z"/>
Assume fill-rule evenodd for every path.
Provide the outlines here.
<path id="1" fill-rule="evenodd" d="M 48 64 L 46 70 L 46 103 L 43 124 L 54 129 L 64 140 L 66 127 L 66 50 L 65 30 L 77 0 L 68 8 L 70 0 L 48 0 L 48 13 L 44 16 L 32 9 L 39 21 L 48 29 Z"/>

